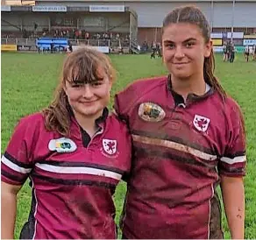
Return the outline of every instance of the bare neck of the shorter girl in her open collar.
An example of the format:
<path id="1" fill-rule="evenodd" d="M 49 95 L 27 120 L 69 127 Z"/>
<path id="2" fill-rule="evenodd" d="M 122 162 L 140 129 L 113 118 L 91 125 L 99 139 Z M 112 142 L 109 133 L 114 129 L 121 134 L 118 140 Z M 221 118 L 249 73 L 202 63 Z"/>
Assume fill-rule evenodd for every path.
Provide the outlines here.
<path id="1" fill-rule="evenodd" d="M 76 112 L 74 112 L 74 115 L 77 123 L 82 127 L 84 131 L 89 134 L 90 137 L 92 137 L 98 130 L 98 126 L 96 125 L 96 119 L 103 115 L 103 110 L 94 116 L 83 116 Z"/>

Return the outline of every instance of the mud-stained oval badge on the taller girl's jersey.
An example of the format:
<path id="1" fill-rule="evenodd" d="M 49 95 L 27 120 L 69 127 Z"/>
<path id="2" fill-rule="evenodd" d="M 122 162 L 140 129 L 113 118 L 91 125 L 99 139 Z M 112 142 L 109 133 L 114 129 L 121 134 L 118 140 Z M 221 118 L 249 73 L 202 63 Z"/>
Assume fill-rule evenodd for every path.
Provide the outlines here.
<path id="1" fill-rule="evenodd" d="M 160 122 L 166 116 L 166 112 L 160 105 L 153 102 L 143 102 L 139 105 L 139 117 L 146 122 Z"/>

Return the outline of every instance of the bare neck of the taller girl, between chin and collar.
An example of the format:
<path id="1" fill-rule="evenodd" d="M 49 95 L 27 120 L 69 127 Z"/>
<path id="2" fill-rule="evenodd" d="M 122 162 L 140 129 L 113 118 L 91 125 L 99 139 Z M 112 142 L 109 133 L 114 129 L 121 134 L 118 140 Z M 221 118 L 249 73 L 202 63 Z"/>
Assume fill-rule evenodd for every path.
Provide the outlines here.
<path id="1" fill-rule="evenodd" d="M 189 93 L 196 95 L 204 95 L 206 89 L 206 83 L 201 76 L 191 76 L 188 79 L 180 79 L 172 76 L 172 88 L 174 91 L 187 99 Z"/>

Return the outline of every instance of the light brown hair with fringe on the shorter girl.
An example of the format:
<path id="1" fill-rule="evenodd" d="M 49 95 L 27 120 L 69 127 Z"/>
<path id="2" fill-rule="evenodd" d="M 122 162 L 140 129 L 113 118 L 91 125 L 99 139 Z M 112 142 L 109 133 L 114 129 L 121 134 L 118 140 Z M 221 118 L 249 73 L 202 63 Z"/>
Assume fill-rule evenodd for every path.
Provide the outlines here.
<path id="1" fill-rule="evenodd" d="M 63 63 L 60 83 L 55 90 L 53 102 L 42 110 L 47 131 L 57 131 L 66 137 L 70 135 L 71 107 L 64 91 L 66 82 L 90 83 L 97 81 L 101 79 L 101 76 L 98 75 L 99 67 L 103 68 L 110 81 L 115 81 L 116 71 L 110 58 L 104 53 L 85 46 L 68 54 Z"/>

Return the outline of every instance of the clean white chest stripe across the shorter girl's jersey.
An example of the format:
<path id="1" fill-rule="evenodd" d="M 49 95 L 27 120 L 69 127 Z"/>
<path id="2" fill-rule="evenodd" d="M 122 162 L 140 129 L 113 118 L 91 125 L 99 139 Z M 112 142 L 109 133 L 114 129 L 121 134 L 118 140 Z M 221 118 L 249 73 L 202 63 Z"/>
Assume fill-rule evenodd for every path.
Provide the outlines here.
<path id="1" fill-rule="evenodd" d="M 40 169 L 51 173 L 65 173 L 65 174 L 91 174 L 97 176 L 103 176 L 115 180 L 121 180 L 122 174 L 111 172 L 109 170 L 97 169 L 86 166 L 53 166 L 49 164 L 39 164 L 35 166 Z"/>

